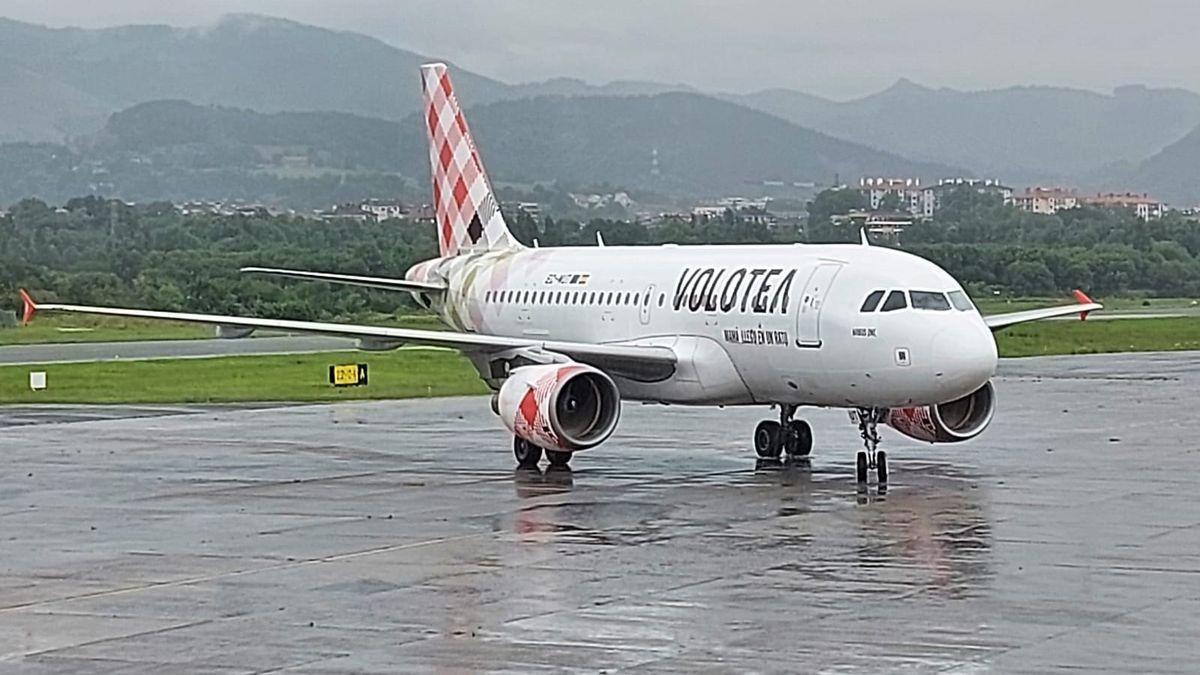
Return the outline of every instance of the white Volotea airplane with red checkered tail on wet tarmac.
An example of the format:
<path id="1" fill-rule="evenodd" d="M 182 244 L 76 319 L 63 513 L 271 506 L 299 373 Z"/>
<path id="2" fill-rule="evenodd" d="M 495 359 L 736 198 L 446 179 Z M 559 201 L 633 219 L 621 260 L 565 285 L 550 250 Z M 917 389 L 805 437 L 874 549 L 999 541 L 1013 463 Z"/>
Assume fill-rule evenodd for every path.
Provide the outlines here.
<path id="1" fill-rule="evenodd" d="M 996 412 L 992 331 L 1099 310 L 1076 304 L 984 317 L 930 261 L 860 244 L 527 247 L 500 214 L 444 64 L 420 67 L 439 256 L 403 279 L 277 268 L 262 274 L 407 292 L 449 330 L 67 304 L 38 310 L 358 339 L 367 351 L 462 352 L 493 392 L 518 466 L 565 467 L 612 436 L 623 401 L 772 406 L 760 458 L 808 458 L 803 406 L 847 408 L 856 478 L 888 482 L 878 426 L 929 443 L 978 436 Z"/>

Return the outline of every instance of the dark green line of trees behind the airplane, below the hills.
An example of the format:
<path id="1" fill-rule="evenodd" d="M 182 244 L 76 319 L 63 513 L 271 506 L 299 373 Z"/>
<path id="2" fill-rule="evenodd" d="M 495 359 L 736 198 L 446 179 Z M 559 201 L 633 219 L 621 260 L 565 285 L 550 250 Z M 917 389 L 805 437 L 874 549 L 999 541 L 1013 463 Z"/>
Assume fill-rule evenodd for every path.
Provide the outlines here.
<path id="1" fill-rule="evenodd" d="M 857 241 L 839 225 L 857 192 L 827 191 L 804 228 L 769 227 L 726 213 L 713 220 L 638 223 L 534 220 L 509 214 L 514 234 L 541 246 Z M 998 198 L 959 191 L 937 216 L 912 226 L 901 246 L 946 268 L 973 293 L 1019 295 L 1085 288 L 1097 295 L 1200 295 L 1200 225 L 1177 214 L 1074 209 L 1027 214 Z M 240 275 L 270 265 L 401 276 L 434 257 L 430 223 L 324 222 L 295 216 L 180 215 L 172 204 L 127 205 L 98 197 L 60 208 L 23 201 L 0 217 L 0 306 L 16 289 L 47 300 L 330 319 L 414 309 L 404 294 Z"/>

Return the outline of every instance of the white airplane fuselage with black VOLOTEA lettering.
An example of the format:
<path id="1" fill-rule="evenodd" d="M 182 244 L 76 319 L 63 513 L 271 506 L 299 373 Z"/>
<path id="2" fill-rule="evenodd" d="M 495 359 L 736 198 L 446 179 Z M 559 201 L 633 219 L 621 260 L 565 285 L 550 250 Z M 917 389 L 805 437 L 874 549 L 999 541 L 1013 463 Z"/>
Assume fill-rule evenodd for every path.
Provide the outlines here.
<path id="1" fill-rule="evenodd" d="M 970 394 L 996 369 L 995 341 L 973 307 L 917 309 L 910 295 L 946 298 L 961 286 L 929 261 L 884 247 L 526 249 L 414 271 L 449 285 L 434 309 L 456 328 L 671 347 L 679 363 L 670 378 L 616 377 L 631 400 L 932 405 Z M 862 311 L 876 291 L 875 310 Z M 881 311 L 893 291 L 905 306 Z"/>

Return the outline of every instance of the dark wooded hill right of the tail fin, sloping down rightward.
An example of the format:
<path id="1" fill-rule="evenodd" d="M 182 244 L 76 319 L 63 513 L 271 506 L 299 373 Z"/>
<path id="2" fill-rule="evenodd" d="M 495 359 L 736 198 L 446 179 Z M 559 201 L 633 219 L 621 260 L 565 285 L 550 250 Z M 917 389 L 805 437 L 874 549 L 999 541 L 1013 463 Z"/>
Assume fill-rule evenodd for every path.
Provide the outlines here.
<path id="1" fill-rule="evenodd" d="M 748 181 L 829 184 L 835 174 L 954 172 L 688 92 L 499 101 L 472 109 L 469 119 L 497 180 L 608 181 L 704 193 L 744 191 Z M 415 129 L 416 120 L 407 120 L 401 156 L 424 162 L 425 141 Z"/>

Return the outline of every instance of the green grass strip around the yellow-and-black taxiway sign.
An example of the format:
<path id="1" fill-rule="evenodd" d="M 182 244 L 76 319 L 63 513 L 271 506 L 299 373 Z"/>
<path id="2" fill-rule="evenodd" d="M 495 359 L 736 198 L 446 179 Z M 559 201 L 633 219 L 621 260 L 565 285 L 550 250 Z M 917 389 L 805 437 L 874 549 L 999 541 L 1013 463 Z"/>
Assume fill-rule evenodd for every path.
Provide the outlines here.
<path id="1" fill-rule="evenodd" d="M 329 366 L 350 363 L 367 364 L 370 384 L 331 387 Z M 32 370 L 46 371 L 46 390 L 29 389 Z M 432 348 L 0 368 L 0 404 L 349 401 L 486 392 L 467 359 Z"/>

